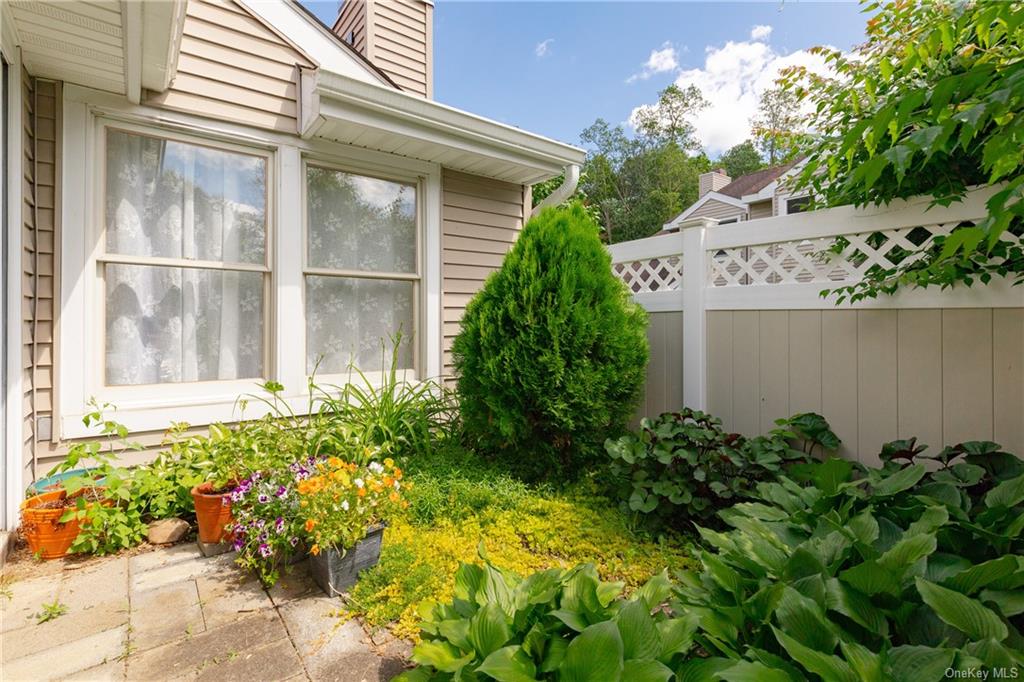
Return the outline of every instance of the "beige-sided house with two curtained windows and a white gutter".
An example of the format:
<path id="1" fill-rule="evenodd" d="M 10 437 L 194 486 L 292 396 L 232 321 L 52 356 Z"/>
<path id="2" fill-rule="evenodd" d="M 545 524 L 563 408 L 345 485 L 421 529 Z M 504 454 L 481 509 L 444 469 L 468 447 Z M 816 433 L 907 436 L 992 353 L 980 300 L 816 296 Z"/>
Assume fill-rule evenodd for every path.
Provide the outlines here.
<path id="1" fill-rule="evenodd" d="M 450 373 L 530 185 L 584 152 L 433 101 L 432 13 L 346 0 L 332 30 L 294 0 L 0 3 L 0 527 L 89 435 L 92 396 L 156 445 L 237 418 L 257 382 L 299 407 L 314 368 L 379 377 L 399 329 L 407 377 Z"/>

